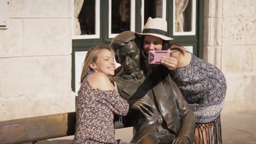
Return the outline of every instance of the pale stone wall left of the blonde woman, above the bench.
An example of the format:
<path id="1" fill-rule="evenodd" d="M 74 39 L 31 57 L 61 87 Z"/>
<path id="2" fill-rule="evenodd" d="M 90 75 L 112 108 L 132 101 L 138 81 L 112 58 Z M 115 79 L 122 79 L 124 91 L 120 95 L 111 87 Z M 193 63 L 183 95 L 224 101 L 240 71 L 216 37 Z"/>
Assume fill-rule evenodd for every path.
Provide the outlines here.
<path id="1" fill-rule="evenodd" d="M 0 121 L 74 111 L 71 0 L 9 0 L 0 29 Z"/>

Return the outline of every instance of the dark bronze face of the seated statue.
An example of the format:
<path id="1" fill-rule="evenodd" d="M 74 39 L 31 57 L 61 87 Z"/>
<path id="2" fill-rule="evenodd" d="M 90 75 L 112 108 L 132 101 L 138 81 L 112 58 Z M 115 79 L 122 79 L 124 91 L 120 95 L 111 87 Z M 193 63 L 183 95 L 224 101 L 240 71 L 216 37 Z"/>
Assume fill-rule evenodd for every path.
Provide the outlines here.
<path id="1" fill-rule="evenodd" d="M 126 74 L 129 75 L 139 68 L 139 48 L 134 41 L 118 49 L 117 56 Z"/>

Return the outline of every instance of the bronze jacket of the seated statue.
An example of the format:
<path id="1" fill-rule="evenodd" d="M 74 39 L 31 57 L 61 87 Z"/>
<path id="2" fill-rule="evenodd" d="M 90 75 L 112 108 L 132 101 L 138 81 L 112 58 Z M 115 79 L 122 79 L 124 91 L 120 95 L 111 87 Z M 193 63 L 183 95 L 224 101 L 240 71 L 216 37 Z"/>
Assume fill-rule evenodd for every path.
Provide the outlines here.
<path id="1" fill-rule="evenodd" d="M 161 81 L 151 88 L 148 87 L 148 79 L 125 80 L 121 76 L 115 76 L 114 81 L 117 82 L 119 94 L 128 101 L 130 107 L 134 101 L 143 99 L 146 103 L 153 104 L 154 113 L 159 113 L 151 118 L 145 118 L 142 112 L 129 110 L 124 123 L 133 127 L 131 142 L 137 143 L 156 129 L 159 133 L 165 133 L 163 131 L 165 128 L 158 128 L 159 125 L 156 122 L 162 118 L 162 121 L 166 122 L 166 129 L 175 137 L 184 135 L 188 137 L 189 143 L 193 143 L 194 113 L 169 75 L 166 76 L 165 82 Z"/>

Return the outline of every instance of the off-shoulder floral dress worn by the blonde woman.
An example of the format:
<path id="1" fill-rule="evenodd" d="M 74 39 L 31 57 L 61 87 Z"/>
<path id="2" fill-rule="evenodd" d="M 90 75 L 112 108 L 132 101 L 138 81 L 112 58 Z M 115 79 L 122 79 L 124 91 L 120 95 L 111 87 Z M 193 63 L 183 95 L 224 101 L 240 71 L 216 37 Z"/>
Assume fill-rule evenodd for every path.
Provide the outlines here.
<path id="1" fill-rule="evenodd" d="M 115 141 L 114 114 L 124 116 L 129 104 L 117 91 L 91 87 L 86 77 L 78 92 L 77 123 L 72 143 L 122 143 Z"/>

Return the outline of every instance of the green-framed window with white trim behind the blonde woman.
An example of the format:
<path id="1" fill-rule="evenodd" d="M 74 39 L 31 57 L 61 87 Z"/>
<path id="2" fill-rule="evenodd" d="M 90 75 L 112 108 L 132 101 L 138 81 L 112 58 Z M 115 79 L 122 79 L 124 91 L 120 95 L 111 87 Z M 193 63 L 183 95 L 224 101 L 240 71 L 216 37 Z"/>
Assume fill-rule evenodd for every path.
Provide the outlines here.
<path id="1" fill-rule="evenodd" d="M 77 94 L 84 58 L 90 47 L 108 45 L 120 32 L 135 31 L 135 0 L 73 1 L 72 91 Z"/>

